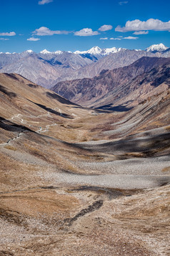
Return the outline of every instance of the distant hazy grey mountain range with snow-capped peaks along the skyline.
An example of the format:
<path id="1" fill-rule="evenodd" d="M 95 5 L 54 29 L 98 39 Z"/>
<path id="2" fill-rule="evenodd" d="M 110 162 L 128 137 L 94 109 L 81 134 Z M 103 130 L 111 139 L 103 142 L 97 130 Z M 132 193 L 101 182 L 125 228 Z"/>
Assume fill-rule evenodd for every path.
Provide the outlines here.
<path id="1" fill-rule="evenodd" d="M 141 57 L 170 57 L 170 48 L 154 44 L 146 50 L 92 47 L 87 51 L 0 53 L 0 72 L 18 73 L 32 82 L 51 87 L 57 82 L 92 78 L 102 70 L 130 65 Z"/>

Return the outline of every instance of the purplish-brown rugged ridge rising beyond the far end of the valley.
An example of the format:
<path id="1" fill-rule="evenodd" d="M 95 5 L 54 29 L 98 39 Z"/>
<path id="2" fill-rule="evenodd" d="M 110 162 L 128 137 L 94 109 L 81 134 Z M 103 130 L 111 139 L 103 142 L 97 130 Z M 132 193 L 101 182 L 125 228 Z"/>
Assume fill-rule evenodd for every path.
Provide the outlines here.
<path id="1" fill-rule="evenodd" d="M 169 62 L 169 58 L 142 57 L 127 67 L 120 67 L 111 71 L 103 70 L 100 75 L 92 79 L 84 78 L 83 80 L 59 82 L 52 87 L 52 90 L 74 103 L 91 106 L 96 102 L 96 105 L 99 107 L 101 105 L 109 104 L 107 102 L 105 103 L 104 100 L 101 101 L 101 103 L 98 103 L 102 98 L 105 98 L 106 100 L 108 93 L 113 93 L 113 95 L 116 93 L 116 97 L 112 96 L 114 99 L 112 99 L 111 103 L 113 103 L 113 101 L 119 98 L 122 94 L 122 85 L 125 85 L 127 82 L 133 80 L 134 77 L 141 75 L 154 67 Z"/>

